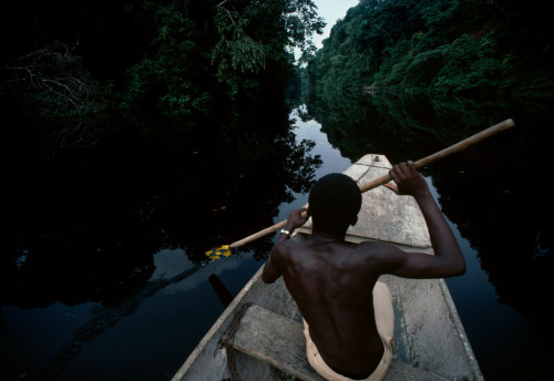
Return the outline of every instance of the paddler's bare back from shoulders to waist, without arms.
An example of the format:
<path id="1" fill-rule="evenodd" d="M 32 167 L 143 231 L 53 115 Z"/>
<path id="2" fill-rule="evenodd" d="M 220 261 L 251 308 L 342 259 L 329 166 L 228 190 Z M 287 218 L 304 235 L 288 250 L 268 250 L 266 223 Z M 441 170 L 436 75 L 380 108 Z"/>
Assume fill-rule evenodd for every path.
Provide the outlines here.
<path id="1" fill-rule="evenodd" d="M 371 373 L 383 353 L 372 301 L 380 244 L 348 245 L 325 237 L 279 247 L 283 278 L 321 358 L 336 371 Z M 360 377 L 361 378 L 361 377 Z"/>

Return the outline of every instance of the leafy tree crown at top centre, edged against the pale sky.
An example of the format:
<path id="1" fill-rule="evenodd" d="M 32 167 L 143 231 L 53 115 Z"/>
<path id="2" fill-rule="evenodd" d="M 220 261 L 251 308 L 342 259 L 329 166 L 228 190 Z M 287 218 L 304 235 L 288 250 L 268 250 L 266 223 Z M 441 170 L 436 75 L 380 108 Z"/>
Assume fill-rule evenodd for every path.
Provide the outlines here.
<path id="1" fill-rule="evenodd" d="M 325 22 L 311 0 L 243 0 L 219 3 L 215 25 L 212 63 L 222 81 L 236 86 L 235 73 L 257 73 L 269 61 L 288 64 L 295 48 L 307 60 L 316 50 L 311 37 Z"/>

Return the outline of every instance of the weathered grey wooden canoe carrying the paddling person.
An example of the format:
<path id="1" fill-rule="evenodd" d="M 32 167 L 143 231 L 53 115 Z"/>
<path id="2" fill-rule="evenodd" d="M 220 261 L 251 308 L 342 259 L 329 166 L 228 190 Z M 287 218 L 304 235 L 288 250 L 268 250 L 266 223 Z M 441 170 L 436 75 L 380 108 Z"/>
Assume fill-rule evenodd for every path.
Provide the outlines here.
<path id="1" fill-rule="evenodd" d="M 366 155 L 345 174 L 359 185 L 386 175 L 383 155 Z M 362 195 L 362 208 L 347 240 L 381 240 L 432 255 L 427 226 L 412 197 L 386 187 Z M 309 238 L 310 220 L 295 240 Z M 261 281 L 263 267 L 235 297 L 173 377 L 173 381 L 321 381 L 307 364 L 301 318 L 283 278 Z M 386 377 L 394 380 L 483 380 L 444 279 L 382 276 L 393 297 L 394 353 Z M 252 306 L 250 306 L 252 305 Z M 233 348 L 233 350 L 230 349 Z"/>

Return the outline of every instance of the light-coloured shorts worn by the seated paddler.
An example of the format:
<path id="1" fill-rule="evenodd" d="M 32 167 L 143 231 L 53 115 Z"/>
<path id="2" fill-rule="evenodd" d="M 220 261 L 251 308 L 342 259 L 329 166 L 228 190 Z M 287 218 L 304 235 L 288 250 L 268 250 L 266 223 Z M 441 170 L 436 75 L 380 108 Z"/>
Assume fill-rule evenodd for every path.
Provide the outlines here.
<path id="1" fill-rule="evenodd" d="M 384 353 L 373 373 L 360 381 L 382 380 L 392 359 L 392 338 L 394 332 L 392 295 L 387 285 L 381 281 L 378 281 L 373 287 L 373 309 L 376 311 L 377 330 L 383 342 Z M 309 327 L 306 320 L 304 320 L 304 336 L 306 337 L 306 356 L 308 357 L 308 361 L 322 378 L 329 381 L 352 381 L 352 379 L 335 372 L 325 363 L 324 359 L 319 356 L 316 344 L 311 341 Z"/>

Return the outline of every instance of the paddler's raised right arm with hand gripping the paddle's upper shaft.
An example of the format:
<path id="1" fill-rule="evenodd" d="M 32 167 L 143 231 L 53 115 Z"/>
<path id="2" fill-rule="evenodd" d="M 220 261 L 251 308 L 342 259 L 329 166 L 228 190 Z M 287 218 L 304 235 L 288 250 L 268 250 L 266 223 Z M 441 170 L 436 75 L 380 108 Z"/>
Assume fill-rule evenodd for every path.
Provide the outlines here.
<path id="1" fill-rule="evenodd" d="M 416 198 L 425 219 L 434 255 L 397 253 L 389 272 L 404 278 L 445 278 L 464 274 L 462 250 L 416 164 L 408 162 L 394 165 L 390 175 L 398 187 L 387 184 L 388 188 Z"/>

